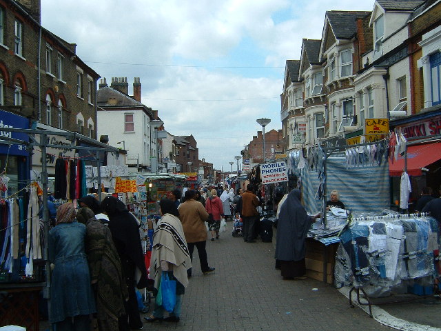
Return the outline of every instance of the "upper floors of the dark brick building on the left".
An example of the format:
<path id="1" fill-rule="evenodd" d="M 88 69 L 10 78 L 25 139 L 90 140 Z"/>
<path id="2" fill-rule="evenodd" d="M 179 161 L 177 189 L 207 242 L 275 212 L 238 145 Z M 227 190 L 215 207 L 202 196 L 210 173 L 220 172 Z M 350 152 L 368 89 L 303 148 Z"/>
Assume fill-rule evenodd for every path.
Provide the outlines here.
<path id="1" fill-rule="evenodd" d="M 41 26 L 40 8 L 40 0 L 0 0 L 1 108 L 96 139 L 99 74 L 76 55 L 76 44 Z"/>

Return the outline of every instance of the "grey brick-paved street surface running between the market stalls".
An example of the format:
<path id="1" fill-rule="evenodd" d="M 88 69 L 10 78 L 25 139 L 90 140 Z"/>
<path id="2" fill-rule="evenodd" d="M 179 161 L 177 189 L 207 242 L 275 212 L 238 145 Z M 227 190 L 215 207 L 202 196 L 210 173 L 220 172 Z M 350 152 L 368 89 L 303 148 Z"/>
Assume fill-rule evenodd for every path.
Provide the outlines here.
<path id="1" fill-rule="evenodd" d="M 345 295 L 331 285 L 314 279 L 283 281 L 274 269 L 274 244 L 244 243 L 232 237 L 231 228 L 228 222 L 219 240 L 207 241 L 213 274 L 202 274 L 194 252 L 181 321 L 145 322 L 144 330 L 441 330 L 439 299 L 374 306 L 373 319 L 361 308 L 350 308 Z"/>

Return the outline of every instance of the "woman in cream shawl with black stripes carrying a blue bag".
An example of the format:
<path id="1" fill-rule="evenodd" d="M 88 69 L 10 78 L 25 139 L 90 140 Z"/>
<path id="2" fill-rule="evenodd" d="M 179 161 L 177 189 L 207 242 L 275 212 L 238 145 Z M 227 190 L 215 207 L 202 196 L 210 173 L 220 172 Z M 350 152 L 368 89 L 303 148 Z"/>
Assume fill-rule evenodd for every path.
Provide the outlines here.
<path id="1" fill-rule="evenodd" d="M 184 202 L 185 204 L 187 202 Z M 179 212 L 174 201 L 162 199 L 159 202 L 161 219 L 153 234 L 152 274 L 154 287 L 159 288 L 161 275 L 168 273 L 169 279 L 176 280 L 176 305 L 174 310 L 164 318 L 164 308 L 155 303 L 153 314 L 144 319 L 148 322 L 159 320 L 178 322 L 181 316 L 181 303 L 185 288 L 188 285 L 187 269 L 192 268 L 187 241 L 179 220 Z"/>

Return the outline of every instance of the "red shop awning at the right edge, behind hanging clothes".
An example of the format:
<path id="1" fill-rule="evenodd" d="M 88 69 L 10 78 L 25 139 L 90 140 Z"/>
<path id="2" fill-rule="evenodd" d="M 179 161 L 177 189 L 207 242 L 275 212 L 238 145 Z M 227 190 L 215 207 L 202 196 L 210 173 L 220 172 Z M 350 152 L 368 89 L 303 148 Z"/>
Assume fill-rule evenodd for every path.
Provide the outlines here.
<path id="1" fill-rule="evenodd" d="M 407 173 L 409 176 L 421 176 L 421 168 L 441 159 L 441 141 L 438 143 L 424 143 L 407 147 Z M 398 160 L 389 159 L 389 174 L 401 176 L 404 169 L 404 155 Z"/>

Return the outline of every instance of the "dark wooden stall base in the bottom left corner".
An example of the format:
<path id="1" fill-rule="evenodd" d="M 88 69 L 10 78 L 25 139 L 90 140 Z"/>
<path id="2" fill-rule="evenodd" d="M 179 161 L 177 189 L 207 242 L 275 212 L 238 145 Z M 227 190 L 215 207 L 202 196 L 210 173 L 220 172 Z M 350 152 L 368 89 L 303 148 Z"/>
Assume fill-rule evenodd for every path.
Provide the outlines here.
<path id="1" fill-rule="evenodd" d="M 39 294 L 45 283 L 0 283 L 0 326 L 39 331 Z"/>

